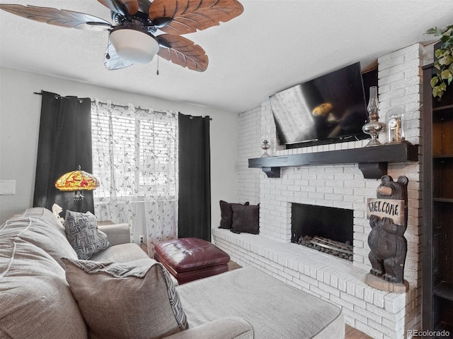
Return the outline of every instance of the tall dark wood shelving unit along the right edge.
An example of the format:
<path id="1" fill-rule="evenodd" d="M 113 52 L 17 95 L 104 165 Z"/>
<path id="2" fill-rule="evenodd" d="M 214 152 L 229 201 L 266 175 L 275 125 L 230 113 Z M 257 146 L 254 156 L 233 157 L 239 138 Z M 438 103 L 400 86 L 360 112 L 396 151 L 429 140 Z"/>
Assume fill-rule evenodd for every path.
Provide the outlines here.
<path id="1" fill-rule="evenodd" d="M 453 86 L 433 98 L 423 68 L 423 304 L 425 330 L 453 328 Z"/>

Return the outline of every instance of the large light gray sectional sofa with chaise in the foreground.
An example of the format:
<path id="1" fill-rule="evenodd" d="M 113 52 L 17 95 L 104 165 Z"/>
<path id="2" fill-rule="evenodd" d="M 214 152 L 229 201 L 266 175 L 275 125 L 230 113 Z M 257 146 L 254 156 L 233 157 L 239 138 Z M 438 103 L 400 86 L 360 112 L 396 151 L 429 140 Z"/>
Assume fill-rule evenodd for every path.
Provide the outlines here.
<path id="1" fill-rule="evenodd" d="M 130 243 L 126 224 L 98 229 L 107 234 L 111 246 L 93 254 L 89 261 L 78 261 L 64 227 L 50 210 L 30 208 L 0 226 L 0 338 L 344 338 L 343 314 L 338 307 L 254 268 L 240 268 L 175 289 L 175 280 L 168 278 L 165 268 Z M 108 266 L 105 263 L 112 263 L 107 268 L 110 273 L 87 273 L 92 270 L 88 266 L 96 266 L 99 272 Z M 127 268 L 127 273 L 112 273 L 118 267 Z M 150 280 L 151 273 L 152 279 L 166 278 L 161 280 L 165 302 L 151 300 L 159 297 L 154 290 L 150 300 L 145 295 L 137 302 L 121 299 L 129 293 L 129 285 L 114 284 L 124 283 L 130 275 L 137 280 L 140 272 L 145 272 L 143 280 Z M 112 278 L 115 274 L 125 275 Z M 105 282 L 90 280 L 94 276 L 108 278 Z M 77 285 L 84 285 L 84 279 L 88 279 L 88 288 L 86 284 L 81 288 L 96 291 L 96 295 L 81 299 Z M 140 284 L 137 288 L 142 288 Z M 127 304 L 139 308 L 134 310 Z M 165 335 L 154 331 L 155 319 L 167 327 L 171 326 L 168 319 L 180 320 L 181 314 L 175 313 L 178 306 L 182 307 L 180 319 L 185 327 L 173 326 Z M 90 311 L 94 318 L 90 315 L 87 319 Z M 127 325 L 144 319 L 147 328 L 134 325 L 138 335 L 93 330 L 98 323 L 122 329 L 122 314 Z"/>

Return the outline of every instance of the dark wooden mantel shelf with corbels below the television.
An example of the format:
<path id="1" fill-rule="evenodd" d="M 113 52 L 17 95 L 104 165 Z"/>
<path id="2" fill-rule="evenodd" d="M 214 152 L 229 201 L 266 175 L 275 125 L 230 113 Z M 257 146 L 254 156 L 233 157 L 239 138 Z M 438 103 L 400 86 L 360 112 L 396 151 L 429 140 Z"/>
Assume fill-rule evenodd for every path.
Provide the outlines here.
<path id="1" fill-rule="evenodd" d="M 418 161 L 418 145 L 398 143 L 349 150 L 256 157 L 248 159 L 248 167 L 262 169 L 269 178 L 279 178 L 281 167 L 358 163 L 365 179 L 379 179 L 387 174 L 389 162 L 407 161 Z"/>

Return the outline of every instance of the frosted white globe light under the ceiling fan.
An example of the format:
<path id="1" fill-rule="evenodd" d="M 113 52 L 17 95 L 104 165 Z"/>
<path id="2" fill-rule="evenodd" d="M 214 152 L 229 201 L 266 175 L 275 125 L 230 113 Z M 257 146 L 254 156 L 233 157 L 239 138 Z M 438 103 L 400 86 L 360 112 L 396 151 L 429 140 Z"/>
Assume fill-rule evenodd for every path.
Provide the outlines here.
<path id="1" fill-rule="evenodd" d="M 110 42 L 124 61 L 147 64 L 159 52 L 159 42 L 148 32 L 133 28 L 117 28 L 110 32 Z"/>

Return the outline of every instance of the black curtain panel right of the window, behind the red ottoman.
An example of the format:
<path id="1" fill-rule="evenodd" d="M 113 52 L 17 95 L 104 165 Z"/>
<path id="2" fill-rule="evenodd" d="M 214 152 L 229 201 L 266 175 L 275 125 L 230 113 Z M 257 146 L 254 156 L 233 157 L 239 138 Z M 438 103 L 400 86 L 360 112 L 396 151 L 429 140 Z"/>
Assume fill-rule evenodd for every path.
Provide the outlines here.
<path id="1" fill-rule="evenodd" d="M 179 114 L 178 237 L 211 241 L 210 117 Z"/>

